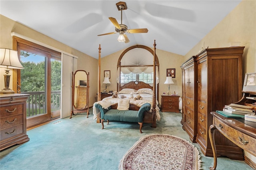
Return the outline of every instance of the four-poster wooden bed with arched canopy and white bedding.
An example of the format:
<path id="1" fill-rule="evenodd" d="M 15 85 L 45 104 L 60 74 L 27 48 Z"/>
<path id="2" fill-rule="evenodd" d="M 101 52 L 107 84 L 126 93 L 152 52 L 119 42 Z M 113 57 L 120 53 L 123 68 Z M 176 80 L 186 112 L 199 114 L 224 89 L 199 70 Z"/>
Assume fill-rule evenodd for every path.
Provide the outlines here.
<path id="1" fill-rule="evenodd" d="M 155 43 L 155 40 L 154 40 L 153 45 L 154 45 L 154 51 L 152 51 L 152 49 L 147 47 L 149 50 L 152 51 L 152 54 L 153 54 L 153 65 L 150 65 L 153 70 L 153 77 L 156 77 L 156 78 L 153 78 L 153 85 L 144 83 L 143 81 L 130 81 L 128 83 L 120 83 L 120 80 L 118 78 L 119 83 L 118 83 L 117 91 L 120 95 L 126 96 L 125 99 L 129 99 L 130 93 L 133 93 L 134 97 L 136 97 L 137 95 L 140 95 L 142 97 L 142 99 L 140 99 L 140 100 L 130 99 L 129 110 L 138 111 L 144 103 L 150 103 L 151 109 L 150 109 L 150 111 L 144 112 L 143 122 L 151 123 L 152 127 L 155 128 L 156 121 L 160 120 L 160 113 L 159 113 L 160 109 L 158 107 L 158 101 L 156 99 L 156 93 L 158 93 L 158 89 L 156 90 L 156 87 L 158 87 L 158 85 L 156 85 L 156 79 L 159 80 L 159 78 L 158 78 L 159 76 L 158 76 L 158 74 L 156 76 L 156 73 L 158 73 L 159 64 L 158 64 L 158 59 L 157 59 L 157 65 L 156 65 L 156 43 Z M 137 45 L 137 46 L 140 47 L 142 45 Z M 146 46 L 144 46 L 144 47 L 146 47 Z M 101 84 L 100 84 L 100 53 L 101 53 L 101 51 L 100 50 L 101 50 L 101 48 L 100 48 L 100 46 L 98 49 L 99 49 L 98 102 L 94 103 L 93 114 L 94 114 L 94 119 L 97 119 L 97 123 L 100 123 L 100 110 L 96 107 L 97 106 L 96 104 L 100 104 L 102 106 L 102 108 L 104 108 L 104 109 L 107 109 L 110 106 L 111 106 L 111 109 L 117 109 L 118 100 L 120 100 L 120 99 L 113 98 L 110 96 L 110 97 L 106 97 L 101 100 L 101 93 L 100 93 L 100 86 L 101 86 Z M 121 62 L 119 62 L 119 63 L 121 63 Z M 121 66 L 119 67 L 118 72 L 121 73 Z M 118 76 L 120 76 L 120 75 L 118 75 Z"/>

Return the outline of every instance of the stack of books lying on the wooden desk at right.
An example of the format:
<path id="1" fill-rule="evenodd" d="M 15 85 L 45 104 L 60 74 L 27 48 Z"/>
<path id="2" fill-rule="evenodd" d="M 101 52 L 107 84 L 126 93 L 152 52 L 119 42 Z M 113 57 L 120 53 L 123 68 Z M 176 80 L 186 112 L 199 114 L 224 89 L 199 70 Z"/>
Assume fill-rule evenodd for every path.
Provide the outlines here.
<path id="1" fill-rule="evenodd" d="M 223 111 L 231 114 L 236 114 L 236 115 L 246 115 L 246 114 L 255 115 L 255 110 L 253 110 L 253 107 L 238 105 L 234 103 L 230 105 L 225 105 L 225 107 L 223 108 Z"/>

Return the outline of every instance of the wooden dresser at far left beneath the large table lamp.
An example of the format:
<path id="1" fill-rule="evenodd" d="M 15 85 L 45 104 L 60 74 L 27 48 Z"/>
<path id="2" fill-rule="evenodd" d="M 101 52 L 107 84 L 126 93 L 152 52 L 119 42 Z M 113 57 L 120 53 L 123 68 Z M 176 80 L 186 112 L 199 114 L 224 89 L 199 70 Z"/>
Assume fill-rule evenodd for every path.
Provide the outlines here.
<path id="1" fill-rule="evenodd" d="M 0 95 L 0 150 L 29 141 L 26 134 L 27 94 Z"/>

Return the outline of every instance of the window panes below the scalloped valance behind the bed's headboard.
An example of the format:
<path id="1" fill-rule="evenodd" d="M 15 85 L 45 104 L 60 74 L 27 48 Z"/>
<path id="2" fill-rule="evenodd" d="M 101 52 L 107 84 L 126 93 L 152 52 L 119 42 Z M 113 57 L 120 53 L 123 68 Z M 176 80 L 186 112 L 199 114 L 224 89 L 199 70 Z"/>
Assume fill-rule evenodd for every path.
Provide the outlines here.
<path id="1" fill-rule="evenodd" d="M 120 78 L 121 83 L 128 83 L 130 81 L 143 81 L 144 83 L 153 83 L 153 73 L 124 74 L 121 72 Z"/>

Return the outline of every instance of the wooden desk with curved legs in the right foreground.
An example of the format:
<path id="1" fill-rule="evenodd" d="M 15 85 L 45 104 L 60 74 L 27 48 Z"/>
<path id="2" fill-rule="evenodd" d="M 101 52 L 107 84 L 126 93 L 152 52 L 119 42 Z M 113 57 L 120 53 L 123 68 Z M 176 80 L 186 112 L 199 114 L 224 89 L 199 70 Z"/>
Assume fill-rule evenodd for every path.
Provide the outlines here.
<path id="1" fill-rule="evenodd" d="M 211 170 L 215 170 L 217 166 L 217 153 L 214 141 L 214 130 L 218 130 L 226 138 L 234 144 L 245 150 L 246 152 L 256 156 L 256 128 L 246 125 L 236 119 L 226 118 L 216 112 L 211 112 L 213 116 L 213 124 L 209 127 L 209 137 L 214 156 L 214 166 Z M 252 168 L 256 168 L 255 163 L 246 159 L 245 162 Z"/>

